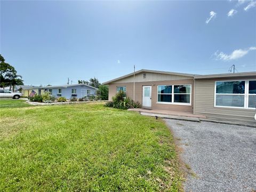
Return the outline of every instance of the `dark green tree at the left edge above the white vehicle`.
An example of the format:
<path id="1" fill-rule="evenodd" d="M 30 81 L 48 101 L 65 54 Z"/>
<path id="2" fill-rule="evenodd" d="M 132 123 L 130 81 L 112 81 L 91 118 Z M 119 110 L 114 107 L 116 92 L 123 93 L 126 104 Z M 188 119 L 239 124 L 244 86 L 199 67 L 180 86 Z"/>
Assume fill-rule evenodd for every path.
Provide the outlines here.
<path id="1" fill-rule="evenodd" d="M 10 90 L 12 86 L 12 89 L 14 91 L 15 85 L 23 85 L 23 80 L 21 78 L 22 77 L 20 75 L 17 75 L 17 71 L 15 70 L 15 68 L 9 63 L 6 63 L 4 57 L 0 54 L 1 86 L 5 87 L 5 85 L 10 85 Z"/>

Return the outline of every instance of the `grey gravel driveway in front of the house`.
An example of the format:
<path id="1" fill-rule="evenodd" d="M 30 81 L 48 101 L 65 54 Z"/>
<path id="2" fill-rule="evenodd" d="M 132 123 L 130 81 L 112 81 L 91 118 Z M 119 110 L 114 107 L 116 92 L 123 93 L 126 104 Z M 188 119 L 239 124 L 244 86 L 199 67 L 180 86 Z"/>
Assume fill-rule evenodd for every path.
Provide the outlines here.
<path id="1" fill-rule="evenodd" d="M 183 162 L 191 168 L 185 191 L 256 191 L 256 128 L 165 122 L 183 148 Z"/>

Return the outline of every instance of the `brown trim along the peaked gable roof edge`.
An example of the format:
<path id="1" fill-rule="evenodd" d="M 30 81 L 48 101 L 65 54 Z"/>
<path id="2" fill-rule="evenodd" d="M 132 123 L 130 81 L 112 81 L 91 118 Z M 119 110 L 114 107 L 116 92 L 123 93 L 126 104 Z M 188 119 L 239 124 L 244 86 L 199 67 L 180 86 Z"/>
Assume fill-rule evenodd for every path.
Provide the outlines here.
<path id="1" fill-rule="evenodd" d="M 135 71 L 135 75 L 138 74 L 138 73 L 142 73 L 142 72 L 160 73 L 160 74 L 167 74 L 167 75 L 180 75 L 180 76 L 188 76 L 188 77 L 195 77 L 196 76 L 195 74 L 176 73 L 176 72 L 169 72 L 169 71 L 149 70 L 149 69 L 140 69 L 138 71 Z M 130 74 L 127 74 L 127 75 L 124 75 L 124 76 L 121 76 L 121 77 L 111 79 L 110 81 L 104 82 L 102 84 L 106 85 L 106 84 L 109 84 L 111 82 L 115 82 L 119 79 L 123 79 L 123 78 L 129 77 L 129 76 L 132 76 L 132 75 L 133 75 L 133 73 L 130 73 Z"/>

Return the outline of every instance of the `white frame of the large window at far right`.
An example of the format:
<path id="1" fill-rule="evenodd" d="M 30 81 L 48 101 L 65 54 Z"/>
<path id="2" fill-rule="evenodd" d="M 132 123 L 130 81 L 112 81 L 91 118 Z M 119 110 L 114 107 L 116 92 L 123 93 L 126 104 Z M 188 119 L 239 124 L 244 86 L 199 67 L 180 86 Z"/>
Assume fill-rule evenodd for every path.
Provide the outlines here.
<path id="1" fill-rule="evenodd" d="M 216 85 L 217 82 L 237 82 L 237 81 L 244 81 L 244 93 L 216 93 Z M 225 80 L 225 81 L 215 81 L 214 82 L 214 107 L 220 107 L 220 108 L 236 108 L 236 109 L 255 109 L 249 106 L 249 81 L 256 81 L 255 79 L 235 79 L 235 80 Z M 244 107 L 235 107 L 235 106 L 217 106 L 216 105 L 216 95 L 244 95 Z M 256 94 L 250 94 L 250 95 L 256 95 Z"/>

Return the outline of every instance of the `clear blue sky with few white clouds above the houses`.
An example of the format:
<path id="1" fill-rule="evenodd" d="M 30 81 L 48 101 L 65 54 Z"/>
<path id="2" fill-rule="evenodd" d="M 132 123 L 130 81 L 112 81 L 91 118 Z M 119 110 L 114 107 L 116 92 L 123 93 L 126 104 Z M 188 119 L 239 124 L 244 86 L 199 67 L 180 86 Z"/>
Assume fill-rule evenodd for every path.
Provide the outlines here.
<path id="1" fill-rule="evenodd" d="M 256 71 L 256 0 L 1 1 L 0 53 L 26 85 L 136 70 Z"/>

